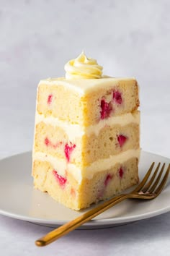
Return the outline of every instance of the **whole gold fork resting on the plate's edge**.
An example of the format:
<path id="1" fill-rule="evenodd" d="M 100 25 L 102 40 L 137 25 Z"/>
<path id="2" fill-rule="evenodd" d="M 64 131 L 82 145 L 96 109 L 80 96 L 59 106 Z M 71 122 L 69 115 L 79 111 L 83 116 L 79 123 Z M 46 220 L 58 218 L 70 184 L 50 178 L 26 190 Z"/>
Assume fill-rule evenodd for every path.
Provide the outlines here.
<path id="1" fill-rule="evenodd" d="M 161 179 L 161 176 L 164 171 L 165 163 L 161 167 L 161 171 L 158 174 L 158 169 L 160 165 L 161 163 L 158 163 L 156 170 L 151 176 L 151 179 L 149 179 L 149 176 L 151 175 L 151 172 L 154 166 L 154 162 L 153 162 L 148 172 L 146 173 L 146 176 L 144 176 L 142 182 L 140 182 L 140 184 L 138 184 L 138 187 L 136 187 L 129 194 L 118 195 L 117 197 L 114 197 L 110 200 L 107 200 L 106 202 L 103 202 L 101 205 L 97 206 L 92 210 L 89 210 L 88 212 L 82 214 L 78 218 L 75 218 L 73 221 L 70 221 L 64 224 L 63 226 L 60 226 L 58 229 L 54 229 L 53 231 L 49 232 L 45 236 L 42 236 L 40 239 L 35 241 L 35 244 L 39 247 L 42 247 L 47 244 L 50 244 L 51 242 L 54 242 L 56 239 L 68 234 L 70 231 L 73 231 L 74 229 L 78 228 L 79 226 L 86 223 L 87 221 L 90 221 L 92 218 L 98 216 L 100 213 L 103 213 L 105 210 L 116 205 L 118 202 L 122 202 L 122 200 L 125 200 L 128 198 L 151 200 L 156 198 L 164 188 L 166 181 L 168 179 L 169 170 L 170 170 L 170 164 L 169 164 L 166 170 L 166 173 L 164 174 L 164 177 Z M 157 177 L 156 177 L 156 174 L 158 174 Z"/>

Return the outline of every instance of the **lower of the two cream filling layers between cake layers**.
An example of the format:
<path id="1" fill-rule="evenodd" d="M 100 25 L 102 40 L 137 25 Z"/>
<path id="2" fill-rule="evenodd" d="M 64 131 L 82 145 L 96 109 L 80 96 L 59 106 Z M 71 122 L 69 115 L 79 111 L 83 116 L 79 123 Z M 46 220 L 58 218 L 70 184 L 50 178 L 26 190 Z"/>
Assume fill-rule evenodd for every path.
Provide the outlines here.
<path id="1" fill-rule="evenodd" d="M 99 171 L 104 171 L 115 166 L 115 164 L 122 164 L 130 158 L 140 158 L 140 149 L 127 150 L 117 155 L 110 155 L 109 158 L 100 159 L 91 163 L 89 166 L 76 166 L 73 163 L 67 163 L 64 159 L 58 159 L 52 155 L 36 152 L 32 155 L 33 160 L 48 161 L 53 168 L 58 171 L 59 175 L 66 176 L 66 171 L 73 175 L 77 182 L 81 183 L 83 178 L 92 179 L 94 174 Z"/>

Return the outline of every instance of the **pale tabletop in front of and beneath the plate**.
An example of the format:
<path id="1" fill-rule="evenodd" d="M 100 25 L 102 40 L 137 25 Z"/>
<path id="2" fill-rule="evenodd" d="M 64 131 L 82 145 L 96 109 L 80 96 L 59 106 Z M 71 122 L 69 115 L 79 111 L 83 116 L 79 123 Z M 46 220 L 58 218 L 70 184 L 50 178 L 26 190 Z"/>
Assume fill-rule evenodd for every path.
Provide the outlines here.
<path id="1" fill-rule="evenodd" d="M 48 247 L 35 247 L 50 228 L 0 217 L 1 255 L 169 256 L 170 213 L 111 229 L 73 231 Z"/>

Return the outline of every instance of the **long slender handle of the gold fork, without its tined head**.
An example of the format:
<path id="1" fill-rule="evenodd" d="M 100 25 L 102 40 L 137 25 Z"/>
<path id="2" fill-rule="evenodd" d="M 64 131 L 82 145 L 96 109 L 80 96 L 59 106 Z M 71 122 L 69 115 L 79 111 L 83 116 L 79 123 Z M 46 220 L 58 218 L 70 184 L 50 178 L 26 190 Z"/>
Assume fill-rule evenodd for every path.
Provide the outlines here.
<path id="1" fill-rule="evenodd" d="M 88 212 L 75 218 L 73 221 L 70 221 L 64 224 L 63 226 L 60 226 L 58 229 L 54 229 L 53 231 L 50 231 L 45 236 L 42 236 L 40 239 L 37 239 L 37 241 L 35 241 L 35 244 L 39 247 L 48 245 L 51 242 L 54 242 L 55 240 L 60 238 L 61 236 L 64 236 L 69 232 L 73 231 L 74 229 L 78 228 L 79 226 L 86 223 L 87 221 L 90 221 L 92 218 L 98 216 L 100 213 L 103 213 L 105 210 L 108 210 L 112 206 L 117 205 L 117 203 L 122 202 L 123 200 L 128 198 L 129 198 L 129 195 L 122 194 L 106 202 L 103 202 L 101 205 L 97 206 L 94 209 L 89 210 Z"/>

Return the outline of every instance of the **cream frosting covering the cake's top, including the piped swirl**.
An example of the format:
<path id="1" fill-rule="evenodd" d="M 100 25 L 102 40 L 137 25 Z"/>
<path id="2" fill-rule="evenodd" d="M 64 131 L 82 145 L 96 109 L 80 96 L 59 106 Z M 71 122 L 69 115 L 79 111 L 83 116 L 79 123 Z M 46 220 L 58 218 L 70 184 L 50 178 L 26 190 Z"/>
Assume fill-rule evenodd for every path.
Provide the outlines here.
<path id="1" fill-rule="evenodd" d="M 87 58 L 82 52 L 76 59 L 68 61 L 65 65 L 66 77 L 48 78 L 41 80 L 40 84 L 65 86 L 71 90 L 84 94 L 99 88 L 112 88 L 119 82 L 134 82 L 135 78 L 119 78 L 102 75 L 102 66 L 95 59 Z"/>

